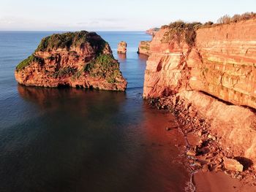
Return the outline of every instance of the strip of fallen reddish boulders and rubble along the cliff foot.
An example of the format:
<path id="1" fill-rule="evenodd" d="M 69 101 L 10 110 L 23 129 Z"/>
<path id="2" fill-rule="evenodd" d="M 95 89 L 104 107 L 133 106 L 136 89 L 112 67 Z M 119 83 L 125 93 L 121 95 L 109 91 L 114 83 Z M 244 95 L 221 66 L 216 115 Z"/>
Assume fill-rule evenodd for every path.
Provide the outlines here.
<path id="1" fill-rule="evenodd" d="M 187 164 L 193 174 L 199 172 L 223 172 L 240 180 L 243 185 L 256 186 L 256 170 L 252 161 L 236 157 L 232 149 L 222 147 L 222 140 L 211 132 L 211 123 L 195 107 L 178 96 L 148 99 L 148 104 L 159 110 L 167 110 L 176 116 L 176 125 L 166 131 L 179 128 L 187 139 Z"/>

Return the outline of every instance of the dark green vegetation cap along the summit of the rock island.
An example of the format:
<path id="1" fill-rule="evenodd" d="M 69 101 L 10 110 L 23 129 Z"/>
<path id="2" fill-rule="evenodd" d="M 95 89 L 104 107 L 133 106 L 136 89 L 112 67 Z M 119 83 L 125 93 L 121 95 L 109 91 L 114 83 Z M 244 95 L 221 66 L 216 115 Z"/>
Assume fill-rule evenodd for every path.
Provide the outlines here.
<path id="1" fill-rule="evenodd" d="M 64 34 L 53 34 L 42 39 L 35 51 L 48 51 L 58 48 L 69 50 L 70 47 L 80 47 L 89 42 L 92 47 L 97 46 L 100 53 L 105 47 L 105 40 L 96 33 L 88 31 L 67 32 Z"/>

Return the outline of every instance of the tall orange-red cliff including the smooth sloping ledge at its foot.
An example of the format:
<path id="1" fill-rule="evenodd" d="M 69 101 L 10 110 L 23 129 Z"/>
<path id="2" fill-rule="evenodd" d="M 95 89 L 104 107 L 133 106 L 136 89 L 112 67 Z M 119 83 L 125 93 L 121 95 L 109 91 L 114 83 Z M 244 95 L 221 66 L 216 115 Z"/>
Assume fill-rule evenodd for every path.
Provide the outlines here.
<path id="1" fill-rule="evenodd" d="M 256 163 L 256 20 L 163 26 L 150 45 L 144 98 L 197 109 L 223 147 Z M 175 104 L 174 104 L 175 106 Z"/>

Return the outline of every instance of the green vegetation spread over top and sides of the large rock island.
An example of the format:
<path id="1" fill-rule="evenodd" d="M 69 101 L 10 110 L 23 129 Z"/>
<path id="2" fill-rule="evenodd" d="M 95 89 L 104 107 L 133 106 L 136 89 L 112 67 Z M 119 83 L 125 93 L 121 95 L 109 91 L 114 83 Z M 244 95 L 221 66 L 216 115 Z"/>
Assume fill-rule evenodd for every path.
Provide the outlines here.
<path id="1" fill-rule="evenodd" d="M 90 57 L 91 61 L 85 61 L 83 55 L 78 55 L 76 49 L 81 48 L 85 44 L 89 44 L 89 51 L 91 51 L 92 55 L 86 55 Z M 33 62 L 37 62 L 38 64 L 47 64 L 53 65 L 54 70 L 48 70 L 48 68 L 42 70 L 48 77 L 60 78 L 60 77 L 71 77 L 72 80 L 77 80 L 81 76 L 85 75 L 85 77 L 102 77 L 105 78 L 110 83 L 117 82 L 118 78 L 121 77 L 121 72 L 119 71 L 119 64 L 111 51 L 108 50 L 109 46 L 106 46 L 108 43 L 105 42 L 104 39 L 99 37 L 96 33 L 89 33 L 87 31 L 79 31 L 75 33 L 64 33 L 64 34 L 53 34 L 50 37 L 45 37 L 40 42 L 37 50 L 33 53 L 29 58 L 26 58 L 24 61 L 20 62 L 16 67 L 16 70 L 19 71 L 24 69 L 29 64 Z M 79 62 L 84 61 L 84 66 L 81 69 L 80 63 L 78 65 L 67 66 L 65 64 L 61 64 L 61 66 L 56 66 L 59 64 L 59 53 L 51 53 L 51 50 L 64 49 L 64 52 L 67 52 L 71 58 L 78 57 Z M 37 52 L 45 52 L 50 53 L 37 53 Z M 36 55 L 42 55 L 42 58 L 37 57 Z M 79 58 L 81 57 L 81 58 Z M 75 58 L 76 61 L 76 58 Z M 66 62 L 66 61 L 65 61 Z M 48 65 L 49 66 L 49 65 Z"/>

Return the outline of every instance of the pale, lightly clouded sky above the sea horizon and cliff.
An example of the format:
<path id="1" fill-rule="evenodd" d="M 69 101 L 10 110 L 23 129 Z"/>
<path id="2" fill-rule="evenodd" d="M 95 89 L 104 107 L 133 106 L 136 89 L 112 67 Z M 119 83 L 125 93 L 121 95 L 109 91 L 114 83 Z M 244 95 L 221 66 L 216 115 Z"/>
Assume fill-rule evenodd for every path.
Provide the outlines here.
<path id="1" fill-rule="evenodd" d="M 244 12 L 256 0 L 0 0 L 0 31 L 145 31 Z"/>

